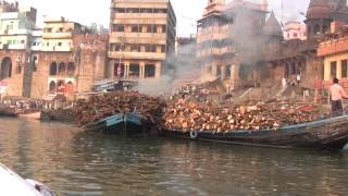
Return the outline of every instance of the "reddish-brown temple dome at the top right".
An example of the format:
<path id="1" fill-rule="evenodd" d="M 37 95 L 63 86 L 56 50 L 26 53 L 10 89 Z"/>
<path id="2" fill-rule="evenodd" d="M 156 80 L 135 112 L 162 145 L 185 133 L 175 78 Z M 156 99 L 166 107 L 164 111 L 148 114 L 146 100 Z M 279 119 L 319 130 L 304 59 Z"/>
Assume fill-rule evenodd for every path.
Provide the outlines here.
<path id="1" fill-rule="evenodd" d="M 311 0 L 307 11 L 307 20 L 311 19 L 331 19 L 331 9 L 326 0 Z"/>

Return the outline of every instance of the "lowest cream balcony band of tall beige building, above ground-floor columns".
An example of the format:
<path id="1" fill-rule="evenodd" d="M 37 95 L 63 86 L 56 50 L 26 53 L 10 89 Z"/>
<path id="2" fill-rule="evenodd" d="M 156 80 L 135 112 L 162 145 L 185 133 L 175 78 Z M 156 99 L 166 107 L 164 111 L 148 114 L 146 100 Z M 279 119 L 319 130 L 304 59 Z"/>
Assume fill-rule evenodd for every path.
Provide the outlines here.
<path id="1" fill-rule="evenodd" d="M 154 53 L 154 52 L 119 52 L 110 51 L 109 58 L 111 59 L 135 59 L 135 60 L 165 60 L 165 53 Z"/>

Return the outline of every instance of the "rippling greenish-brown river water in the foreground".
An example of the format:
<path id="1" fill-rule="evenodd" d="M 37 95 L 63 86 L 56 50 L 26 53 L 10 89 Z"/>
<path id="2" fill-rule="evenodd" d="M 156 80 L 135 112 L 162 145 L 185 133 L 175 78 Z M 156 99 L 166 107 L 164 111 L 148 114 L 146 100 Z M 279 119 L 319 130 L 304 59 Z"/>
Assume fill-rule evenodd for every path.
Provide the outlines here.
<path id="1" fill-rule="evenodd" d="M 87 134 L 0 119 L 0 162 L 58 195 L 347 195 L 348 151 Z"/>

